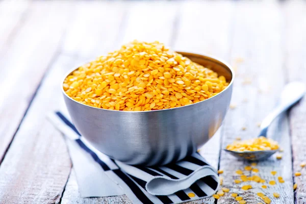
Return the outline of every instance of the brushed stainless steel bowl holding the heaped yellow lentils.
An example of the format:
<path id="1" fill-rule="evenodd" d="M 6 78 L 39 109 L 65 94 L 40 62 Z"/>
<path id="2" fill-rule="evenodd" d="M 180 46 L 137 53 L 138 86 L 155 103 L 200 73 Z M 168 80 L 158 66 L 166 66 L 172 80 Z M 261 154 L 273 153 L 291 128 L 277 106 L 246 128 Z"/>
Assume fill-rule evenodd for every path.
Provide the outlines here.
<path id="1" fill-rule="evenodd" d="M 113 159 L 147 166 L 181 160 L 205 144 L 228 110 L 234 72 L 216 58 L 179 53 L 224 75 L 230 84 L 221 93 L 195 104 L 144 112 L 94 108 L 73 100 L 62 89 L 69 114 L 82 136 Z"/>

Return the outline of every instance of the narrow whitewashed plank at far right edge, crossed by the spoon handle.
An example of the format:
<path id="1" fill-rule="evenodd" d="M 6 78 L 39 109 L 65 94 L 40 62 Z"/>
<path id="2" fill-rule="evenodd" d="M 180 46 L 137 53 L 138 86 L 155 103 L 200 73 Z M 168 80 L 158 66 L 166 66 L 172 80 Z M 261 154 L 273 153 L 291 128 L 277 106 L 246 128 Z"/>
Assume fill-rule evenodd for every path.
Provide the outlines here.
<path id="1" fill-rule="evenodd" d="M 306 2 L 286 2 L 286 73 L 288 81 L 306 83 Z M 293 154 L 293 171 L 302 175 L 294 177 L 297 184 L 295 203 L 306 203 L 306 170 L 300 164 L 306 162 L 306 98 L 292 108 L 290 114 L 290 130 Z"/>

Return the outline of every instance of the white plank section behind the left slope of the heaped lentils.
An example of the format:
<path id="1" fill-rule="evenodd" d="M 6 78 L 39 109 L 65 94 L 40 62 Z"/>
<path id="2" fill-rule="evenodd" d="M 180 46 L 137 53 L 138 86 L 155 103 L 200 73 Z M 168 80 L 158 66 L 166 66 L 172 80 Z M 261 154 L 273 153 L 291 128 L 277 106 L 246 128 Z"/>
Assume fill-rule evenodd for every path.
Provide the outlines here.
<path id="1" fill-rule="evenodd" d="M 94 60 L 114 49 L 122 33 L 127 3 L 81 1 L 75 6 L 75 18 L 67 28 L 62 53 Z M 116 32 L 114 32 L 116 31 Z"/>

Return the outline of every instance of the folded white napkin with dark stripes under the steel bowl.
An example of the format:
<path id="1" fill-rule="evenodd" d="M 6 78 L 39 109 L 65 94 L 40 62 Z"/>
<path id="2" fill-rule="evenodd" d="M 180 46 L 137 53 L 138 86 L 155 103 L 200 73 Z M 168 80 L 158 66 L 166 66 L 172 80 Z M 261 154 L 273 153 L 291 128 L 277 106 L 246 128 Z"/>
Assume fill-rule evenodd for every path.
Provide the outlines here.
<path id="1" fill-rule="evenodd" d="M 197 152 L 164 166 L 132 166 L 91 146 L 61 112 L 48 119 L 65 136 L 82 197 L 123 195 L 133 203 L 181 203 L 212 196 L 217 172 Z"/>

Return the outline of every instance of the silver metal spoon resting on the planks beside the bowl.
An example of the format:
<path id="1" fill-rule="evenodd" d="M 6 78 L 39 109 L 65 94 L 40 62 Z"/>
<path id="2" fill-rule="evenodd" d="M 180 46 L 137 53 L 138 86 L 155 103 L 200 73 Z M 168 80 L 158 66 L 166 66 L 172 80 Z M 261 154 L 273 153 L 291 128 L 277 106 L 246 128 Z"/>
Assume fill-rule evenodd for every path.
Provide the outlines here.
<path id="1" fill-rule="evenodd" d="M 279 104 L 262 121 L 261 126 L 260 126 L 261 131 L 258 137 L 260 136 L 267 137 L 268 127 L 272 123 L 272 121 L 279 114 L 288 110 L 299 99 L 301 99 L 303 95 L 305 94 L 305 91 L 306 91 L 305 84 L 301 82 L 292 82 L 292 83 L 287 84 L 284 90 L 282 91 L 281 97 L 279 98 Z M 232 151 L 232 150 L 227 150 L 227 149 L 224 149 L 224 150 L 229 152 L 231 155 L 237 158 L 255 161 L 255 160 L 267 159 L 268 157 L 273 155 L 278 149 L 260 150 L 260 151 Z"/>

